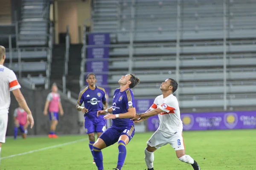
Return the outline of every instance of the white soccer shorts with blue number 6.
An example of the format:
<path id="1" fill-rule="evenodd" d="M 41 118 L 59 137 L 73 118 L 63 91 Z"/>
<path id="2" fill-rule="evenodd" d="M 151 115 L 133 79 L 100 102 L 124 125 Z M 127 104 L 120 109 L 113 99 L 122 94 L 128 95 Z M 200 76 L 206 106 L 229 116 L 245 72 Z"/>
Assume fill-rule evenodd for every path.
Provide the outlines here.
<path id="1" fill-rule="evenodd" d="M 157 129 L 157 131 L 155 131 L 155 133 L 148 140 L 147 144 L 157 149 L 166 144 L 171 144 L 175 150 L 185 149 L 182 132 L 177 132 L 173 136 L 166 138 L 163 136 L 162 132 Z"/>

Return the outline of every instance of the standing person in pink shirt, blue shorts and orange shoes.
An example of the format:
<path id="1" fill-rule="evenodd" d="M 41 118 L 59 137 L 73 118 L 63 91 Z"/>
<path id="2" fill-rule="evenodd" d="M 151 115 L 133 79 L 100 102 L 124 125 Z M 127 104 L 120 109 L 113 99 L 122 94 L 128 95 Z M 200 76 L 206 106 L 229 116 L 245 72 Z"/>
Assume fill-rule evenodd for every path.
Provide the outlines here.
<path id="1" fill-rule="evenodd" d="M 61 98 L 58 94 L 58 87 L 55 83 L 52 85 L 52 92 L 48 94 L 47 100 L 44 106 L 44 115 L 47 115 L 47 109 L 49 107 L 49 118 L 52 121 L 52 125 L 50 127 L 49 138 L 58 138 L 55 134 L 56 126 L 58 125 L 58 112 L 60 112 L 61 116 L 64 114 L 63 108 L 61 105 Z"/>

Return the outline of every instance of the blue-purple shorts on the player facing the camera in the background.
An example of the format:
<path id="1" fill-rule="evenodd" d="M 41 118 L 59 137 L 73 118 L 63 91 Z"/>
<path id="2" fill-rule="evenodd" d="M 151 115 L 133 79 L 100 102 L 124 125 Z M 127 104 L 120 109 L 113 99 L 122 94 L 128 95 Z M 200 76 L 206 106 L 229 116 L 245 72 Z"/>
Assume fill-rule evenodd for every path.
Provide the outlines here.
<path id="1" fill-rule="evenodd" d="M 84 128 L 87 134 L 104 132 L 106 130 L 106 120 L 84 119 Z"/>

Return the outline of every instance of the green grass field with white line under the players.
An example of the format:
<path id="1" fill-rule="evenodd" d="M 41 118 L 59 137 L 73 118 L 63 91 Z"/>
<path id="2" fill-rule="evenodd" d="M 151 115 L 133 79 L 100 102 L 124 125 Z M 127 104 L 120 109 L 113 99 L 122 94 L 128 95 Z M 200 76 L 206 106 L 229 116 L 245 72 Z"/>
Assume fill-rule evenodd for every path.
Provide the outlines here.
<path id="1" fill-rule="evenodd" d="M 122 170 L 144 170 L 144 148 L 153 133 L 137 133 L 127 145 L 127 156 Z M 192 156 L 202 170 L 256 170 L 256 130 L 218 130 L 183 132 L 186 154 Z M 76 143 L 52 147 L 66 142 Z M 19 153 L 38 150 L 20 156 Z M 116 167 L 117 144 L 102 150 L 105 170 Z M 155 170 L 192 170 L 179 161 L 170 145 L 154 153 Z M 58 139 L 29 137 L 11 138 L 2 146 L 0 170 L 97 170 L 88 147 L 88 137 L 60 136 Z"/>

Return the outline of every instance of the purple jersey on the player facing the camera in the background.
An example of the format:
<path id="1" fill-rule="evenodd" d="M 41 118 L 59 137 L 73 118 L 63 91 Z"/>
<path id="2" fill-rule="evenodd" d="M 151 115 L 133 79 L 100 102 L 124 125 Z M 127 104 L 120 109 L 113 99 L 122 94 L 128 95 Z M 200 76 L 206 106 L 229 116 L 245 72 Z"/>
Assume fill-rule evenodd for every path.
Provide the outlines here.
<path id="1" fill-rule="evenodd" d="M 106 101 L 106 93 L 104 88 L 96 86 L 91 90 L 88 86 L 84 88 L 79 94 L 78 102 L 83 103 L 84 107 L 88 109 L 88 113 L 84 114 L 85 119 L 104 120 L 104 115 L 97 117 L 97 111 L 103 110 L 102 102 Z"/>

